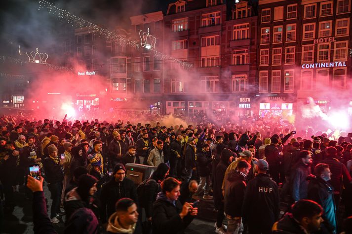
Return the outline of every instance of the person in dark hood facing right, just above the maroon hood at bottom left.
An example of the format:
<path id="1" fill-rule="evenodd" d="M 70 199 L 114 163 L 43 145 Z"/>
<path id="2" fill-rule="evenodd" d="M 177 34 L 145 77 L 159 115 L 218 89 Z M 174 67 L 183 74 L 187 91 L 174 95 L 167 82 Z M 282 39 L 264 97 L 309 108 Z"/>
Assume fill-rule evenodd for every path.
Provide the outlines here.
<path id="1" fill-rule="evenodd" d="M 64 209 L 66 217 L 71 218 L 75 210 L 79 208 L 90 208 L 96 215 L 98 215 L 98 207 L 92 196 L 97 191 L 98 180 L 91 175 L 83 174 L 79 177 L 78 187 L 72 189 L 65 196 Z"/>

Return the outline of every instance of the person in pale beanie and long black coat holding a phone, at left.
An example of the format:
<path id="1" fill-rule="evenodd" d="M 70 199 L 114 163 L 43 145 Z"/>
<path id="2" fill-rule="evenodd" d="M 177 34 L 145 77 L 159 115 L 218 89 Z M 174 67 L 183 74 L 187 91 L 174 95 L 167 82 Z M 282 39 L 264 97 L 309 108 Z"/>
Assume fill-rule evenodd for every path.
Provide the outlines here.
<path id="1" fill-rule="evenodd" d="M 52 223 L 57 224 L 60 222 L 56 217 L 61 212 L 61 193 L 63 187 L 64 173 L 62 170 L 63 160 L 60 160 L 57 155 L 57 148 L 55 145 L 49 145 L 49 157 L 43 160 L 43 166 L 46 175 L 46 182 L 51 193 L 52 204 L 50 208 L 50 220 Z"/>

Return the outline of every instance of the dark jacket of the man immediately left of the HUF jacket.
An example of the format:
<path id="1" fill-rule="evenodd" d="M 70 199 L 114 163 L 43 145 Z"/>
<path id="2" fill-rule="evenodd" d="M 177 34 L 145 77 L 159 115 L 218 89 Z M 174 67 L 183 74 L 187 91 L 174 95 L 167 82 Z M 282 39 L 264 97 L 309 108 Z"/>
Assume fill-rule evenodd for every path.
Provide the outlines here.
<path id="1" fill-rule="evenodd" d="M 245 178 L 240 172 L 231 170 L 225 178 L 224 211 L 232 217 L 242 217 L 242 205 L 246 190 Z"/>

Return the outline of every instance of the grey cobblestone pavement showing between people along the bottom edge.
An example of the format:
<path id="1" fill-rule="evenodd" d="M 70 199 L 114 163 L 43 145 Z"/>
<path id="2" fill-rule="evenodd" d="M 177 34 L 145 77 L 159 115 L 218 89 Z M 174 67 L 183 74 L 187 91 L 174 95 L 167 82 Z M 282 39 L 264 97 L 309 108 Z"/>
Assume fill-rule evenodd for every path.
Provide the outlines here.
<path id="1" fill-rule="evenodd" d="M 44 185 L 44 194 L 47 199 L 47 207 L 51 205 L 50 192 Z M 24 188 L 20 188 L 19 193 L 14 194 L 15 207 L 12 214 L 4 214 L 2 222 L 0 222 L 0 234 L 33 234 L 33 216 L 32 216 L 32 201 L 26 200 L 24 196 Z M 59 217 L 64 220 L 64 217 Z M 64 223 L 60 222 L 55 225 L 59 234 L 63 233 Z M 187 234 L 213 234 L 215 233 L 214 222 L 195 219 L 187 228 Z"/>

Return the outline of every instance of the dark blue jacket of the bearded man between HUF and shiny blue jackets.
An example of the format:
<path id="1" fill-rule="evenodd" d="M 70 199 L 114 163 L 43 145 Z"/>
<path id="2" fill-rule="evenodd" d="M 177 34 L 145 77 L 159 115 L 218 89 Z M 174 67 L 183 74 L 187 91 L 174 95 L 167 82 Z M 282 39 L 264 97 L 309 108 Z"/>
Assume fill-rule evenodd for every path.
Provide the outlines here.
<path id="1" fill-rule="evenodd" d="M 292 198 L 294 201 L 307 199 L 308 181 L 307 177 L 311 174 L 310 165 L 299 161 L 292 171 L 291 185 Z"/>

